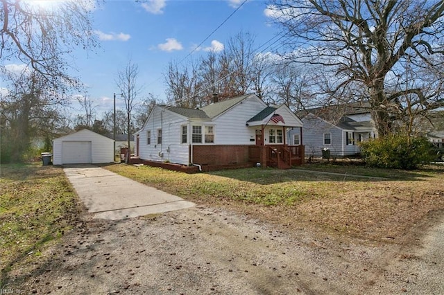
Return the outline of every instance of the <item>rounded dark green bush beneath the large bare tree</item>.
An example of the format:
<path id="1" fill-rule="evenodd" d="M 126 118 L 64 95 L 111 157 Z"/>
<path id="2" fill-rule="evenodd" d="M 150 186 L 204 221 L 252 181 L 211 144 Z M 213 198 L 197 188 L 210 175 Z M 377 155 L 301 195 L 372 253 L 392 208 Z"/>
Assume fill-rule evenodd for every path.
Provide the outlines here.
<path id="1" fill-rule="evenodd" d="M 432 143 L 425 137 L 391 135 L 370 139 L 361 145 L 366 164 L 377 168 L 416 169 L 432 161 Z"/>

